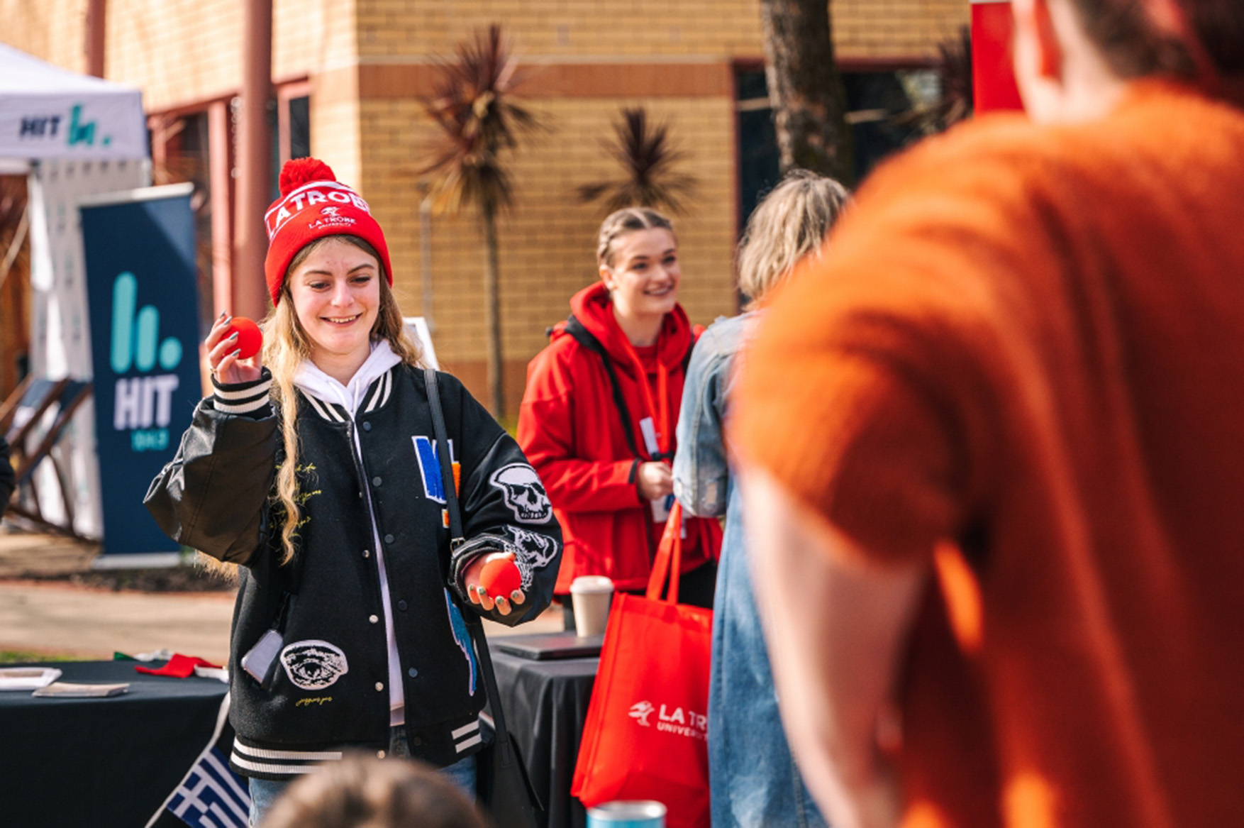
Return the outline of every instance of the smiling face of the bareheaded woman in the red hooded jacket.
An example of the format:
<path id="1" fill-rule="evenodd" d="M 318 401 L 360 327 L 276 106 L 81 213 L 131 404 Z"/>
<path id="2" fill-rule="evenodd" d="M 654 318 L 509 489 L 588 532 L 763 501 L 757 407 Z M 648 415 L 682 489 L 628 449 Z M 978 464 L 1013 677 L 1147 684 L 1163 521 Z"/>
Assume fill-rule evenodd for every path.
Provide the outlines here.
<path id="1" fill-rule="evenodd" d="M 678 242 L 664 228 L 634 230 L 613 240 L 613 265 L 601 265 L 601 279 L 620 321 L 664 316 L 678 303 Z"/>

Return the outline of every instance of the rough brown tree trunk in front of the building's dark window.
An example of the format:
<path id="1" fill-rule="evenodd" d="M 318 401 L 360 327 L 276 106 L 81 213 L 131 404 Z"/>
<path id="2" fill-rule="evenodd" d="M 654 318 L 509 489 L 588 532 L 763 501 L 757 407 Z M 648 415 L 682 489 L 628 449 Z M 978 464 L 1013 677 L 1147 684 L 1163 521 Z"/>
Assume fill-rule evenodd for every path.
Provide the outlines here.
<path id="1" fill-rule="evenodd" d="M 810 169 L 850 186 L 855 148 L 829 0 L 760 0 L 760 20 L 782 173 Z"/>

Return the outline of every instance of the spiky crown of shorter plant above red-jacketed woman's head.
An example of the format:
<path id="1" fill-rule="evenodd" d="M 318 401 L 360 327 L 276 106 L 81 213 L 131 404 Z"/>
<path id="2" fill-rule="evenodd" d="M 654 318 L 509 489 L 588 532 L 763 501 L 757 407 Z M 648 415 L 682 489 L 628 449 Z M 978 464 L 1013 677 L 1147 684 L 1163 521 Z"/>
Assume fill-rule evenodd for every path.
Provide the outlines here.
<path id="1" fill-rule="evenodd" d="M 622 110 L 613 133 L 615 139 L 605 142 L 605 149 L 622 166 L 622 179 L 583 184 L 576 188 L 578 199 L 600 200 L 606 213 L 624 207 L 685 213 L 687 199 L 694 195 L 698 182 L 674 169 L 687 153 L 671 141 L 669 123 L 649 122 L 642 107 Z"/>

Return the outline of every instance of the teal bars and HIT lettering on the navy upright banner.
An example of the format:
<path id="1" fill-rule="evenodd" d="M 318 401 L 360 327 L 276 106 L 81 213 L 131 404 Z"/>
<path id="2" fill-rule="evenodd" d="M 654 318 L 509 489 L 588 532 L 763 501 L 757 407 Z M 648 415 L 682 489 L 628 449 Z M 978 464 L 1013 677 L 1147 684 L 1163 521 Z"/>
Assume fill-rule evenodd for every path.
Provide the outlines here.
<path id="1" fill-rule="evenodd" d="M 159 309 L 138 308 L 138 279 L 126 271 L 112 284 L 112 337 L 109 365 L 117 374 L 137 370 L 142 376 L 119 377 L 113 397 L 112 425 L 131 431 L 134 451 L 162 451 L 168 447 L 173 392 L 179 380 L 173 371 L 182 364 L 182 341 L 175 336 L 159 339 Z"/>

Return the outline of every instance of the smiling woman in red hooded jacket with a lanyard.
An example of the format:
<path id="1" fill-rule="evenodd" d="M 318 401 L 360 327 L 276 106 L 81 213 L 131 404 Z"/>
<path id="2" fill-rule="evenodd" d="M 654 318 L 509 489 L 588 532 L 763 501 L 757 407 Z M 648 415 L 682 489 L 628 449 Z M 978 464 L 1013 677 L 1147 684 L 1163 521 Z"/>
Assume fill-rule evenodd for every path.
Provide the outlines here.
<path id="1" fill-rule="evenodd" d="M 565 596 L 580 575 L 642 590 L 672 504 L 669 462 L 694 331 L 678 304 L 682 271 L 669 219 L 631 208 L 601 225 L 601 280 L 527 367 L 519 443 L 540 472 L 566 539 Z M 717 520 L 684 524 L 680 599 L 712 606 Z M 567 613 L 567 626 L 572 624 Z"/>

